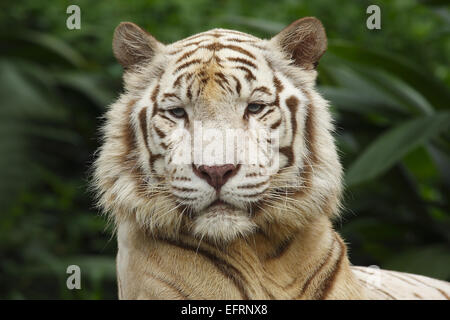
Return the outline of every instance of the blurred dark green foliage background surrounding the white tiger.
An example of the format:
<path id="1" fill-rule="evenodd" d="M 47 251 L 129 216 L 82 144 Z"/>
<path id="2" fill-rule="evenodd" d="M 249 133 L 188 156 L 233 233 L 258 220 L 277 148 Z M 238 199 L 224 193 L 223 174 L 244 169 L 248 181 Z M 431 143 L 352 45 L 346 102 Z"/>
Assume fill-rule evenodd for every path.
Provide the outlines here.
<path id="1" fill-rule="evenodd" d="M 336 228 L 353 264 L 450 280 L 447 1 L 2 1 L 0 298 L 116 298 L 116 243 L 87 191 L 100 116 L 121 91 L 111 39 L 132 21 L 164 43 L 214 27 L 269 38 L 316 16 L 346 170 Z M 66 8 L 81 8 L 68 30 Z M 382 29 L 366 28 L 381 8 Z M 82 289 L 66 288 L 66 268 Z"/>

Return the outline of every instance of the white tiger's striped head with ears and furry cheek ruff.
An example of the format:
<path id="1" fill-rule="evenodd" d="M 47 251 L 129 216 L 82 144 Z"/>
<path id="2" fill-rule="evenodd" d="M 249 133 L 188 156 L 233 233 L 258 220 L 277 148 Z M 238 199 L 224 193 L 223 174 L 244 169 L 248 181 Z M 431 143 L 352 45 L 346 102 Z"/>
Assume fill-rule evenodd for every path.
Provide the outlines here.
<path id="1" fill-rule="evenodd" d="M 125 91 L 94 166 L 100 206 L 116 223 L 216 242 L 336 214 L 341 165 L 315 90 L 326 46 L 315 18 L 270 40 L 214 29 L 169 45 L 121 23 Z"/>

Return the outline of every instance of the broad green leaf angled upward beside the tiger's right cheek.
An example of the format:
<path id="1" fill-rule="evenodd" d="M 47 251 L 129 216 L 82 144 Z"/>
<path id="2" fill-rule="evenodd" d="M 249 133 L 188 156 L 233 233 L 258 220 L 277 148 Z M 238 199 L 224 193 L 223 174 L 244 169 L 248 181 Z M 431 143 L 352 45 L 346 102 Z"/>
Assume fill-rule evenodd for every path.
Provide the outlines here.
<path id="1" fill-rule="evenodd" d="M 348 185 L 355 185 L 382 174 L 409 151 L 450 127 L 450 113 L 440 112 L 408 121 L 383 134 L 350 166 Z"/>

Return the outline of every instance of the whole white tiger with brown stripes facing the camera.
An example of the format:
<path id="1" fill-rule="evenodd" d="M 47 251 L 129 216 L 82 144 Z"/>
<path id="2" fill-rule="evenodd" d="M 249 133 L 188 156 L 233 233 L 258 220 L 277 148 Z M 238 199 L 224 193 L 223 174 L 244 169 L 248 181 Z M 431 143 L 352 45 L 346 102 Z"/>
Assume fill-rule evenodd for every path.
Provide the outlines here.
<path id="1" fill-rule="evenodd" d="M 213 29 L 162 44 L 115 30 L 124 92 L 94 164 L 120 299 L 448 299 L 447 282 L 351 266 L 333 230 L 342 168 L 315 88 L 313 17 L 271 39 Z"/>

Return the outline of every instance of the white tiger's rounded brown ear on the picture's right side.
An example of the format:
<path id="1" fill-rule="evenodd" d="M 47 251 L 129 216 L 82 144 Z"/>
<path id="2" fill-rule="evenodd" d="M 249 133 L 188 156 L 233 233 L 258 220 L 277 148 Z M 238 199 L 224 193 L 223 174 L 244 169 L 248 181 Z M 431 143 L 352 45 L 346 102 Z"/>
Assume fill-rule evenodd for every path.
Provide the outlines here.
<path id="1" fill-rule="evenodd" d="M 294 21 L 270 41 L 276 43 L 295 65 L 307 70 L 317 67 L 327 49 L 325 28 L 314 17 Z"/>

